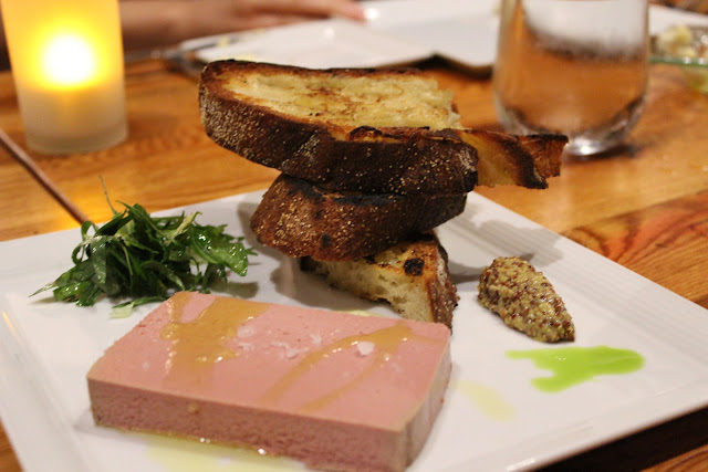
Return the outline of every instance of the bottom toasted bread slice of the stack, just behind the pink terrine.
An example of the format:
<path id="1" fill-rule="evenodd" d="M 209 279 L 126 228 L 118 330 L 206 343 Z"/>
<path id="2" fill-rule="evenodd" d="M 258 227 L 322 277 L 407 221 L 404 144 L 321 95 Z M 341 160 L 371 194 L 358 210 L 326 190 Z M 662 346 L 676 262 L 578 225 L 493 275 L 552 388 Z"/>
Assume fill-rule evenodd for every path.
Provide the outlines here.
<path id="1" fill-rule="evenodd" d="M 405 318 L 444 323 L 452 328 L 452 311 L 459 296 L 448 272 L 447 253 L 430 234 L 418 234 L 355 261 L 303 258 L 301 268 L 323 275 L 336 289 L 374 302 L 388 302 Z"/>

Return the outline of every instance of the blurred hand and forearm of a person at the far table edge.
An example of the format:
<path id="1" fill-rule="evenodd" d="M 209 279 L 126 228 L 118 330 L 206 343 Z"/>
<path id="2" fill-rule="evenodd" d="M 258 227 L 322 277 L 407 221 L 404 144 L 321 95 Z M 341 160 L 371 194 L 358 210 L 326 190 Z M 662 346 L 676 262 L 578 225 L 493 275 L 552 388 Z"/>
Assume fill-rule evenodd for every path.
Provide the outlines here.
<path id="1" fill-rule="evenodd" d="M 344 17 L 364 20 L 354 0 L 123 0 L 121 18 L 126 49 Z"/>

